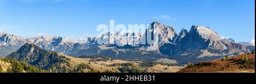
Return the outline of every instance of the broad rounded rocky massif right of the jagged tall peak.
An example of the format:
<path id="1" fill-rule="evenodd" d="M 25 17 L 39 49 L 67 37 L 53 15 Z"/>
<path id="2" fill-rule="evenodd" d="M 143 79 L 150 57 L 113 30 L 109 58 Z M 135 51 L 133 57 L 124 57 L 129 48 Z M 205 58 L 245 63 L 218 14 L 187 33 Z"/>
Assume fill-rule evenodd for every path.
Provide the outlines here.
<path id="1" fill-rule="evenodd" d="M 220 44 L 220 36 L 208 27 L 192 26 L 188 35 L 184 36 L 181 45 L 185 45 L 187 49 L 207 49 L 222 46 Z M 185 48 L 183 48 L 185 49 Z M 188 50 L 187 50 L 188 51 Z"/>

